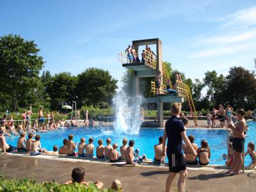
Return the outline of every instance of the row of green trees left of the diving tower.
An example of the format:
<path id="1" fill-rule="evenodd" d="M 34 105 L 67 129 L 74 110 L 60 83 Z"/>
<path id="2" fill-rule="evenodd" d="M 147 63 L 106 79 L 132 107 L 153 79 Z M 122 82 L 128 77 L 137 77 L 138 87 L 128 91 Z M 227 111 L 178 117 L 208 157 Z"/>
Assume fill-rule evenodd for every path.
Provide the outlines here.
<path id="1" fill-rule="evenodd" d="M 117 80 L 108 70 L 87 68 L 77 76 L 69 72 L 40 74 L 45 62 L 39 51 L 34 41 L 19 35 L 0 37 L 0 111 L 16 111 L 29 104 L 60 110 L 72 101 L 77 108 L 111 105 Z"/>

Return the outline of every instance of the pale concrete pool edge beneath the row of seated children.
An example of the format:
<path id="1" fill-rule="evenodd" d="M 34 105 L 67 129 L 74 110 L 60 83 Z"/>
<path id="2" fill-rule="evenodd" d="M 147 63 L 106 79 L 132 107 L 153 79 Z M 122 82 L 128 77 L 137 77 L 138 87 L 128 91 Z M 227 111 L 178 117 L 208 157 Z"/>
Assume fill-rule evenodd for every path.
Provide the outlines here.
<path id="1" fill-rule="evenodd" d="M 0 152 L 0 155 L 3 156 L 22 156 L 22 157 L 28 157 L 28 158 L 35 158 L 35 159 L 48 159 L 52 161 L 66 161 L 66 162 L 88 162 L 88 163 L 100 163 L 100 164 L 113 164 L 116 166 L 134 166 L 132 164 L 125 164 L 124 162 L 118 162 L 118 163 L 110 163 L 108 161 L 100 161 L 99 159 L 83 159 L 83 157 L 68 157 L 68 156 L 59 156 L 59 155 L 51 155 L 51 154 L 42 154 L 40 156 L 30 156 L 29 154 L 17 154 L 17 153 L 8 153 L 6 155 L 3 154 L 3 152 Z M 152 168 L 159 168 L 159 165 L 155 164 L 149 164 L 149 163 L 142 163 L 135 165 L 140 167 L 152 167 Z M 163 169 L 168 169 L 168 165 L 161 167 Z M 187 166 L 188 170 L 227 170 L 227 166 L 219 165 L 219 164 L 209 164 L 207 166 Z M 252 170 L 256 170 L 256 168 L 244 168 L 244 172 L 250 172 Z"/>

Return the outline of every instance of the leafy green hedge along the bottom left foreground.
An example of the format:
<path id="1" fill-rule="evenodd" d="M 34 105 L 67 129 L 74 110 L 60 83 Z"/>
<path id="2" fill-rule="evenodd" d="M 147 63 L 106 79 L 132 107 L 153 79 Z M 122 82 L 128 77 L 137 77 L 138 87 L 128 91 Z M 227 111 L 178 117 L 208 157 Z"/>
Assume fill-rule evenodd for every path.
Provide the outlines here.
<path id="1" fill-rule="evenodd" d="M 3 176 L 0 176 L 0 191 L 3 192 L 11 192 L 11 191 L 54 191 L 54 192 L 112 192 L 111 189 L 102 189 L 99 190 L 94 184 L 89 184 L 89 186 L 79 185 L 79 184 L 58 184 L 54 181 L 52 182 L 44 182 L 43 184 L 38 184 L 35 180 L 28 179 L 4 179 Z"/>

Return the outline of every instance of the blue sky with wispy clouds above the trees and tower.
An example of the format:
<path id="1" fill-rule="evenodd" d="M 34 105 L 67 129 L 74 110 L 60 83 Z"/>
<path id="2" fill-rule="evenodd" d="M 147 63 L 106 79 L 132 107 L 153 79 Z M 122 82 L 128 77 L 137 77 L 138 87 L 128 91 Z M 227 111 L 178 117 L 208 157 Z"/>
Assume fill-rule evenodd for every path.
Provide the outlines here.
<path id="1" fill-rule="evenodd" d="M 9 33 L 35 40 L 52 74 L 99 67 L 116 79 L 118 52 L 160 38 L 164 61 L 202 79 L 207 70 L 254 69 L 256 1 L 0 1 L 0 36 Z"/>

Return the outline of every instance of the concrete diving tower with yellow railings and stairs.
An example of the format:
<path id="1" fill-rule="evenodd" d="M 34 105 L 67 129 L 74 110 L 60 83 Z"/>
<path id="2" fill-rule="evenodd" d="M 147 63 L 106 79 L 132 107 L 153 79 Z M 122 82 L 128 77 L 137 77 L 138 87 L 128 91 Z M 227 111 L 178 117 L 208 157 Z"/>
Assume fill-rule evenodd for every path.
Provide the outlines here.
<path id="1" fill-rule="evenodd" d="M 177 82 L 177 86 L 174 87 L 170 86 L 170 89 L 166 89 L 166 79 L 170 79 L 170 74 L 166 71 L 166 66 L 164 66 L 163 60 L 162 60 L 162 42 L 159 38 L 151 38 L 151 39 L 145 39 L 145 40 L 134 40 L 132 41 L 132 46 L 134 47 L 137 57 L 140 55 L 139 47 L 140 46 L 150 46 L 150 45 L 156 45 L 156 53 L 150 50 L 150 48 L 145 49 L 145 52 L 143 52 L 143 59 L 141 58 L 141 61 L 136 60 L 132 61 L 129 60 L 129 55 L 127 55 L 125 52 L 120 52 L 118 54 L 118 61 L 122 63 L 122 67 L 131 69 L 133 72 L 133 79 L 132 79 L 132 95 L 140 95 L 140 78 L 143 77 L 156 77 L 159 72 L 161 72 L 161 85 L 159 88 L 159 92 L 157 93 L 156 83 L 151 82 L 151 91 L 154 93 L 154 97 L 145 98 L 145 103 L 157 103 L 157 122 L 159 124 L 159 127 L 164 127 L 163 123 L 163 103 L 173 103 L 173 102 L 184 102 L 184 98 L 186 97 L 189 99 L 189 88 L 186 84 L 182 82 Z M 163 82 L 163 80 L 165 82 Z M 191 95 L 191 94 L 190 94 Z M 193 100 L 192 100 L 193 102 Z M 195 113 L 195 106 L 194 110 L 191 111 Z M 195 124 L 197 122 L 197 118 L 195 121 Z"/>

